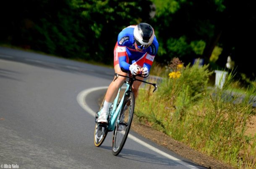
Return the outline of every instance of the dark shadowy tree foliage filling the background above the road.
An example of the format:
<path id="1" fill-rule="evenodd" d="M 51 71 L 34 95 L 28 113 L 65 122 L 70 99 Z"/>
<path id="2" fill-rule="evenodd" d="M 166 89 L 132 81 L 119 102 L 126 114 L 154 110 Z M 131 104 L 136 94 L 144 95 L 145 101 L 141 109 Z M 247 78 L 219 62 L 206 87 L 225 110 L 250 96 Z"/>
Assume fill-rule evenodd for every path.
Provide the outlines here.
<path id="1" fill-rule="evenodd" d="M 146 22 L 159 41 L 157 62 L 203 58 L 214 70 L 225 68 L 231 55 L 236 71 L 255 79 L 254 7 L 249 0 L 4 1 L 0 43 L 112 64 L 118 33 Z M 215 46 L 223 50 L 212 62 Z"/>

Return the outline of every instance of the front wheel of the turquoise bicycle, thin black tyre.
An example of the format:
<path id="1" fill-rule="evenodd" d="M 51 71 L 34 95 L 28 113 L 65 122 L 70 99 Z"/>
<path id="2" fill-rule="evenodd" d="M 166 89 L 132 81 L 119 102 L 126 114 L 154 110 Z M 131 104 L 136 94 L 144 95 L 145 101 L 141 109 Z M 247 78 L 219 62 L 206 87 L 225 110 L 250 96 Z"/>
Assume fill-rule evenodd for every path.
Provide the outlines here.
<path id="1" fill-rule="evenodd" d="M 131 122 L 133 120 L 134 103 L 133 92 L 127 93 L 121 111 L 118 115 L 112 137 L 112 153 L 115 156 L 117 156 L 123 149 L 129 134 Z"/>

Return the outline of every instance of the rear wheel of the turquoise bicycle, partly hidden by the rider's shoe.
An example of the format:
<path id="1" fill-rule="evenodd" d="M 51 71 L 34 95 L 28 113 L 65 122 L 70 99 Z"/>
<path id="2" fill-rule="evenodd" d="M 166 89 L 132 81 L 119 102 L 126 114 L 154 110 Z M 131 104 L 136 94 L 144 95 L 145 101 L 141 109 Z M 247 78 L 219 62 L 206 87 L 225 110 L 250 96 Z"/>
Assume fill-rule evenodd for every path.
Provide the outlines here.
<path id="1" fill-rule="evenodd" d="M 105 97 L 103 98 L 102 104 L 99 108 L 99 110 L 102 108 L 103 103 L 104 103 Z M 106 136 L 107 136 L 107 125 L 106 124 L 99 124 L 96 121 L 96 116 L 97 116 L 98 112 L 95 115 L 95 129 L 94 129 L 94 145 L 99 147 L 102 145 L 102 143 L 104 142 Z"/>

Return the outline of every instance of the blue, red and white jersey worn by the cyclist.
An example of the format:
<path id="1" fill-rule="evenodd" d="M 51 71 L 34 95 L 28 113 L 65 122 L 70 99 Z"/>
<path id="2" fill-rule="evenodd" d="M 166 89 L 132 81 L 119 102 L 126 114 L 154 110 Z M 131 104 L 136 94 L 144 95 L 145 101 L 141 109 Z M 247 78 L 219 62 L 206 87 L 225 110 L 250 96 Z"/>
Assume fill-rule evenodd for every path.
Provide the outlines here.
<path id="1" fill-rule="evenodd" d="M 152 44 L 145 50 L 137 51 L 133 38 L 135 26 L 128 26 L 119 33 L 114 50 L 114 63 L 119 61 L 120 68 L 126 71 L 129 71 L 131 64 L 138 65 L 139 67 L 147 67 L 150 70 L 159 46 L 157 38 L 154 36 Z"/>

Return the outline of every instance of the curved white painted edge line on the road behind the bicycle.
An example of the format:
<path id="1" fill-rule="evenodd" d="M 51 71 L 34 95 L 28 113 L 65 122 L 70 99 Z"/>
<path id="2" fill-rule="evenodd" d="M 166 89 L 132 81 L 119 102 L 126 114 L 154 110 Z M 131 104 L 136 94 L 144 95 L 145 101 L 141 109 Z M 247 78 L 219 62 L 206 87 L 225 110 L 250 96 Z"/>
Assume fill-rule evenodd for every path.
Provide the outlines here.
<path id="1" fill-rule="evenodd" d="M 97 90 L 102 90 L 102 89 L 107 89 L 107 86 L 102 86 L 102 87 L 95 87 L 95 88 L 89 88 L 89 89 L 86 89 L 84 91 L 81 91 L 80 93 L 78 93 L 77 97 L 76 97 L 76 100 L 78 102 L 78 104 L 86 111 L 88 112 L 89 114 L 91 114 L 91 116 L 95 116 L 95 111 L 93 111 L 88 105 L 87 103 L 85 102 L 86 100 L 86 96 L 91 93 L 91 92 L 94 92 L 94 91 L 97 91 Z M 161 154 L 162 156 L 165 156 L 166 158 L 168 159 L 171 159 L 173 161 L 176 161 L 180 164 L 182 164 L 183 166 L 186 166 L 190 169 L 198 169 L 196 166 L 193 166 L 193 165 L 190 165 L 186 162 L 183 162 L 181 161 L 180 159 L 177 159 L 176 157 L 174 156 L 171 156 L 170 154 L 167 154 L 165 153 L 164 151 L 161 151 L 157 148 L 155 148 L 154 146 L 151 146 L 149 144 L 147 144 L 146 142 L 136 138 L 135 136 L 129 134 L 128 135 L 129 139 L 132 139 L 133 141 L 136 141 L 138 144 L 141 144 L 142 146 L 145 146 L 146 148 L 148 149 L 151 149 L 152 151 L 158 153 L 158 154 Z"/>

